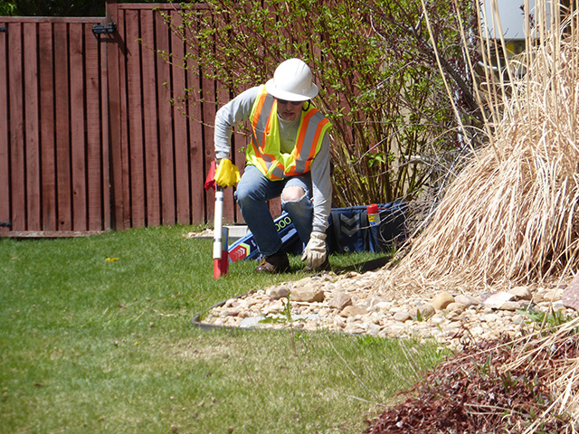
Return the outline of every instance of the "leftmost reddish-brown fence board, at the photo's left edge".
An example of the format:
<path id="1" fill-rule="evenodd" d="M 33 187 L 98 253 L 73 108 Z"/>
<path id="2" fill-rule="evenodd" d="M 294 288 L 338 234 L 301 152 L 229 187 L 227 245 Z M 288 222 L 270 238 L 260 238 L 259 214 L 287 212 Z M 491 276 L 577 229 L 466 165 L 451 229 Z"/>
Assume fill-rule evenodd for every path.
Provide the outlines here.
<path id="1" fill-rule="evenodd" d="M 7 26 L 0 21 L 0 26 Z M 7 56 L 7 33 L 0 32 L 0 59 Z M 8 63 L 0 61 L 0 125 L 8 126 Z M 11 222 L 10 215 L 10 164 L 8 128 L 0 127 L 0 222 Z M 0 234 L 9 231 L 8 227 L 0 227 Z"/>

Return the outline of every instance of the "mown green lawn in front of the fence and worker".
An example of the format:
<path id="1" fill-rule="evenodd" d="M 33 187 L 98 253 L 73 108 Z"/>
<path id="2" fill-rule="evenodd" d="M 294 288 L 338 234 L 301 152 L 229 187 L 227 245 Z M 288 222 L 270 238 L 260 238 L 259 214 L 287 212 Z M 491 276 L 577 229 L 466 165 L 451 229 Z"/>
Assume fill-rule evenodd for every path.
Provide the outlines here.
<path id="1" fill-rule="evenodd" d="M 436 344 L 195 328 L 215 303 L 303 276 L 242 261 L 214 279 L 212 241 L 192 230 L 0 239 L 0 433 L 359 433 L 441 361 Z"/>

